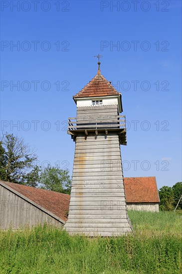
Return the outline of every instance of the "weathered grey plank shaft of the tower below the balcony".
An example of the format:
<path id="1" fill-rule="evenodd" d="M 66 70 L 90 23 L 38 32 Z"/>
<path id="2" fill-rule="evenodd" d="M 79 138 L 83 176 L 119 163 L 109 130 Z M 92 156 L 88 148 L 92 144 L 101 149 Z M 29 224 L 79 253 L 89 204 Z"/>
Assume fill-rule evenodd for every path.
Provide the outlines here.
<path id="1" fill-rule="evenodd" d="M 114 110 L 114 108 L 113 108 Z M 85 110 L 89 111 L 89 110 Z M 77 113 L 78 115 L 78 113 Z M 76 137 L 68 221 L 70 234 L 111 236 L 131 233 L 119 137 L 99 133 Z"/>

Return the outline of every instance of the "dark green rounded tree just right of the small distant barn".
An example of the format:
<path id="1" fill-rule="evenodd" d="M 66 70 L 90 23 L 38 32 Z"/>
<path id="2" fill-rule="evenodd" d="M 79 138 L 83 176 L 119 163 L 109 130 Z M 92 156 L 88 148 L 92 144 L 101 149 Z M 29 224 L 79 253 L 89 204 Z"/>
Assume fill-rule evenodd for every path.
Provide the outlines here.
<path id="1" fill-rule="evenodd" d="M 160 209 L 171 211 L 174 209 L 174 192 L 170 186 L 163 186 L 159 190 Z"/>

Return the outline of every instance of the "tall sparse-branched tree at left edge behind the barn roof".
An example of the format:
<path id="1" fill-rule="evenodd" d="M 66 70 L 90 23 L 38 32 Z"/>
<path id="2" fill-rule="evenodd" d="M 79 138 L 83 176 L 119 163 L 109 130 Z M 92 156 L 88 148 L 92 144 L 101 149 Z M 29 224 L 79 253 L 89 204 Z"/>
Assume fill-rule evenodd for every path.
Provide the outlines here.
<path id="1" fill-rule="evenodd" d="M 36 159 L 34 150 L 22 138 L 4 134 L 0 146 L 0 179 L 36 186 L 40 171 L 34 166 Z"/>

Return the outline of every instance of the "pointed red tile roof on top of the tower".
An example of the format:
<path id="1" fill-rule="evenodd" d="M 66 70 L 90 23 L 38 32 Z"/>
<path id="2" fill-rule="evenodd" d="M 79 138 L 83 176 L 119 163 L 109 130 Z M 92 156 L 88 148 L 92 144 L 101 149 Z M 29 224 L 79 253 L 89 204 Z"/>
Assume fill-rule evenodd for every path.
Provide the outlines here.
<path id="1" fill-rule="evenodd" d="M 98 69 L 95 77 L 75 96 L 73 99 L 84 98 L 84 97 L 101 97 L 101 96 L 113 96 L 121 95 L 109 81 L 104 78 Z"/>

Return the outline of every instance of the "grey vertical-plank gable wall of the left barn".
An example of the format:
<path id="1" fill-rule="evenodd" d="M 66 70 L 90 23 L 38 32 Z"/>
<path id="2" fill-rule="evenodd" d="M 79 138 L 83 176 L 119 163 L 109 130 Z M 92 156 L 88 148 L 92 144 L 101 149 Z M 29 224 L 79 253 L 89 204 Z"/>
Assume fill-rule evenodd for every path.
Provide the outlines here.
<path id="1" fill-rule="evenodd" d="M 60 227 L 62 224 L 10 190 L 0 185 L 0 229 L 18 229 L 43 225 Z"/>

